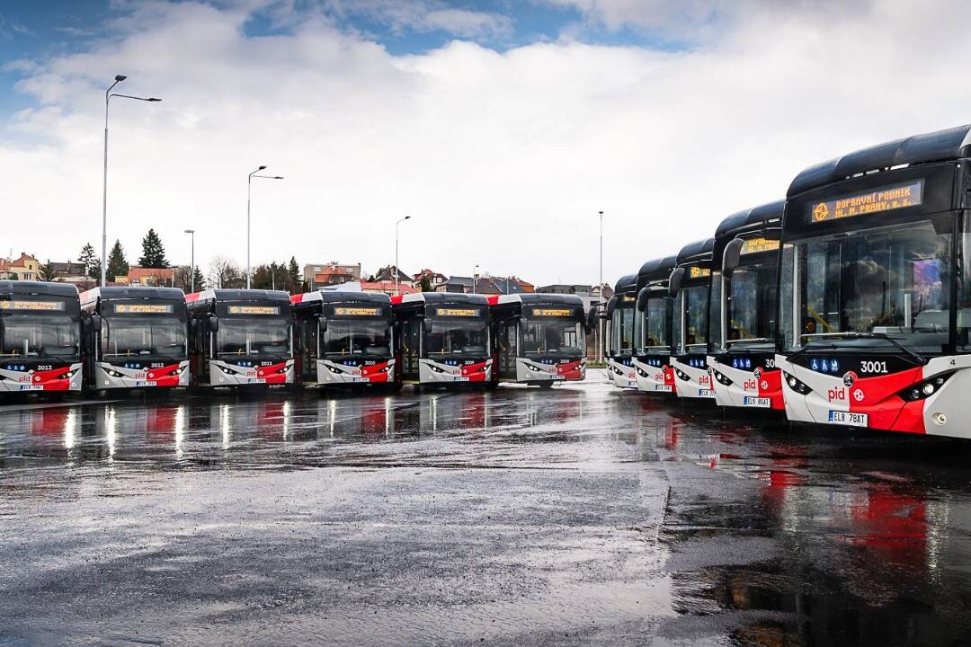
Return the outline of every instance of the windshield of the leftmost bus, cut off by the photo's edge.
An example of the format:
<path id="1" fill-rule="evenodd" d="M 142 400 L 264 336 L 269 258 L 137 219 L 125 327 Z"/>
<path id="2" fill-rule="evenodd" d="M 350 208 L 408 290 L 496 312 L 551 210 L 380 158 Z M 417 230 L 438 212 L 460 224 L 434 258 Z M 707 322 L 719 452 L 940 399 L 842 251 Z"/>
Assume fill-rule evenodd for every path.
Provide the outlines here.
<path id="1" fill-rule="evenodd" d="M 77 359 L 81 355 L 78 328 L 78 320 L 66 315 L 0 316 L 0 356 Z"/>

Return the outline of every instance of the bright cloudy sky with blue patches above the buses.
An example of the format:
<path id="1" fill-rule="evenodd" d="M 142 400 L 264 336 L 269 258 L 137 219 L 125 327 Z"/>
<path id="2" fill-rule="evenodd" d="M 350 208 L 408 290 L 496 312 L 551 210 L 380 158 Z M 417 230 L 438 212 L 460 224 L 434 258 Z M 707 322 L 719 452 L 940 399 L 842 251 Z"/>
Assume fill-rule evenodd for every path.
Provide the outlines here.
<path id="1" fill-rule="evenodd" d="M 22 5 L 22 6 L 21 6 Z M 971 121 L 971 3 L 111 0 L 0 4 L 0 255 L 295 255 L 604 275 L 712 235 L 811 164 Z M 116 103 L 117 101 L 117 103 Z"/>

